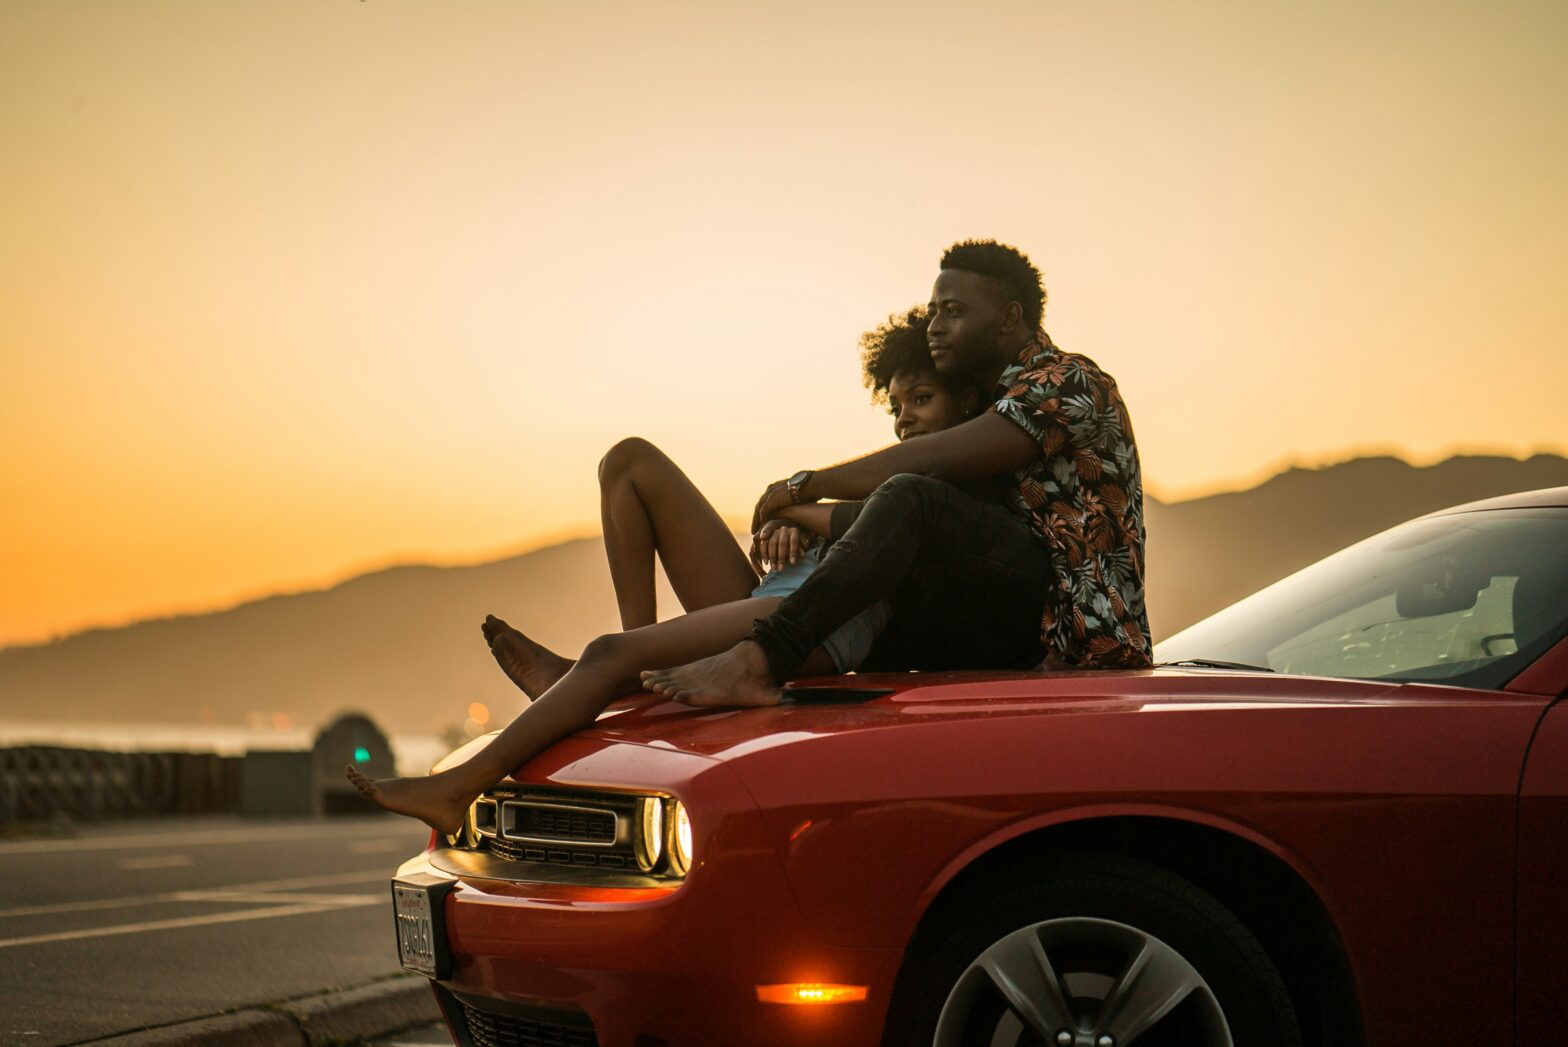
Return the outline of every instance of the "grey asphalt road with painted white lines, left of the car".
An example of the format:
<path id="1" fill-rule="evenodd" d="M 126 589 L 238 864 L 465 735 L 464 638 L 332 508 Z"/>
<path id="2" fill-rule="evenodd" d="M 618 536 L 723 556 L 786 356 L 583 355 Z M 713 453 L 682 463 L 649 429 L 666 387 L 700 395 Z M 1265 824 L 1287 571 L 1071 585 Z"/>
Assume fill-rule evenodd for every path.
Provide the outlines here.
<path id="1" fill-rule="evenodd" d="M 397 817 L 199 818 L 0 842 L 0 1044 L 71 1044 L 400 970 Z"/>

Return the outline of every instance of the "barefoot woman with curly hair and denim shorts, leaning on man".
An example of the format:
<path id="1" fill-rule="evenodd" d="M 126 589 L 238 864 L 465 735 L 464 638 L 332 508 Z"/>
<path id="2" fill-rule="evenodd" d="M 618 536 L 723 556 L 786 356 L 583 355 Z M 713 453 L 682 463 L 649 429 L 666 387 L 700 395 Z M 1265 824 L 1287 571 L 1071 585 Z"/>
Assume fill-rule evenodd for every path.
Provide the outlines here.
<path id="1" fill-rule="evenodd" d="M 900 440 L 946 429 L 975 414 L 978 392 L 944 384 L 925 346 L 925 313 L 913 309 L 861 339 L 866 384 L 886 398 Z M 599 636 L 572 661 L 497 618 L 485 619 L 495 660 L 535 697 L 489 746 L 426 777 L 373 782 L 353 765 L 348 777 L 370 801 L 441 832 L 463 823 L 474 798 L 533 755 L 591 724 L 605 705 L 641 688 L 640 672 L 684 665 L 739 643 L 815 567 L 829 533 L 831 506 L 782 511 L 753 538 L 753 558 L 674 462 L 646 440 L 622 440 L 599 467 L 605 555 L 624 632 Z M 717 550 L 717 552 L 715 552 Z M 655 621 L 654 556 L 663 561 L 687 614 Z M 757 585 L 754 563 L 770 563 Z M 811 654 L 803 674 L 848 672 L 886 624 L 877 605 Z"/>

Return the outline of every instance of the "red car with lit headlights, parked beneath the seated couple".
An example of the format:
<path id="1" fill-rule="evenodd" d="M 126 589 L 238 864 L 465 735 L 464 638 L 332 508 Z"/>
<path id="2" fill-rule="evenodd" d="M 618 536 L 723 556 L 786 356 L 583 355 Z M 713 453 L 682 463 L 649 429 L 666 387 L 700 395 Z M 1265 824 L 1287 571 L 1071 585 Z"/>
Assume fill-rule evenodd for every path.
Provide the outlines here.
<path id="1" fill-rule="evenodd" d="M 1559 487 L 1152 671 L 627 699 L 400 868 L 403 961 L 477 1047 L 1560 1044 L 1565 635 Z"/>

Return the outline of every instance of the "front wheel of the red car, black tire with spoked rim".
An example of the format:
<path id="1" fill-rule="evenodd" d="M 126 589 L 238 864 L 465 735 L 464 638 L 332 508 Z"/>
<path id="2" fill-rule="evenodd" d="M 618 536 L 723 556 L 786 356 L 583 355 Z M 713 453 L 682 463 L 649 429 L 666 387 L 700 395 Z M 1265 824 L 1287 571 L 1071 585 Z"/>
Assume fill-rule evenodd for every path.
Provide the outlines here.
<path id="1" fill-rule="evenodd" d="M 1301 1045 L 1264 947 L 1159 865 L 1043 854 L 961 890 L 905 958 L 884 1047 Z"/>

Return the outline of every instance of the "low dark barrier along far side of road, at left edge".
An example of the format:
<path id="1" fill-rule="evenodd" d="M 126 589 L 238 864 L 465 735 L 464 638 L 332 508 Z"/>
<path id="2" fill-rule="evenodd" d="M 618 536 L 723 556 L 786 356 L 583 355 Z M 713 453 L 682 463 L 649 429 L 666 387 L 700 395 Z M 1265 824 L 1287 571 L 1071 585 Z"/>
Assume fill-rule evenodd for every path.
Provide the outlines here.
<path id="1" fill-rule="evenodd" d="M 0 749 L 0 823 L 238 809 L 240 757 L 213 752 Z"/>

